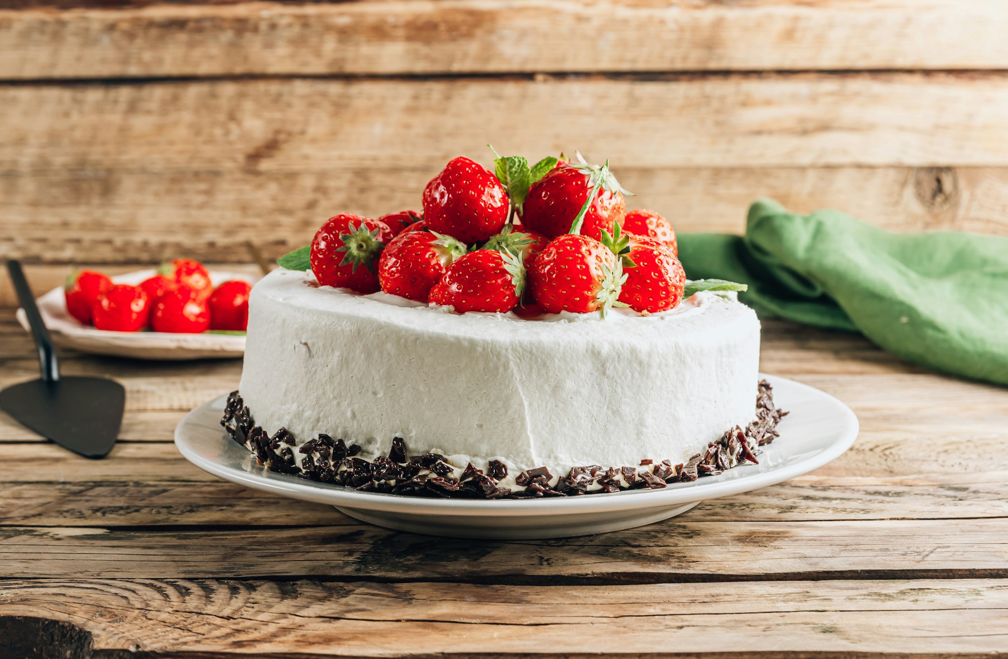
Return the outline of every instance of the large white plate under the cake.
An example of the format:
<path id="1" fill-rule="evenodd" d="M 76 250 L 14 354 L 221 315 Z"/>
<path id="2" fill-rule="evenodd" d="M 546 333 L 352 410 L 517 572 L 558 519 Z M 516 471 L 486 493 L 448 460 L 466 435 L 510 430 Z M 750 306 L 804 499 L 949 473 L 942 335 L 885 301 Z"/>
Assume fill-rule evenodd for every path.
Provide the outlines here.
<path id="1" fill-rule="evenodd" d="M 175 445 L 191 463 L 226 481 L 292 499 L 330 504 L 371 524 L 429 535 L 482 539 L 562 538 L 629 529 L 686 512 L 706 499 L 774 485 L 835 459 L 858 436 L 858 418 L 833 396 L 784 378 L 773 385 L 778 407 L 790 412 L 780 437 L 763 447 L 759 465 L 661 490 L 533 500 L 424 499 L 358 492 L 269 472 L 221 427 L 226 396 L 197 407 L 175 428 Z M 755 387 L 754 387 L 755 389 Z M 277 501 L 280 504 L 280 501 Z"/>

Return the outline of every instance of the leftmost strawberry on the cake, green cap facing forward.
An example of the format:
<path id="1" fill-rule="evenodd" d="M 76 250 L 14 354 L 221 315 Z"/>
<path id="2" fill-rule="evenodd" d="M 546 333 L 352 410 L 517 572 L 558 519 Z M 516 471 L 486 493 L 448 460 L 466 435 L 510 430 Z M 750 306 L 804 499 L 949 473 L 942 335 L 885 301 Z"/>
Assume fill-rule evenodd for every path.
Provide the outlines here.
<path id="1" fill-rule="evenodd" d="M 326 221 L 311 241 L 311 271 L 323 286 L 373 293 L 378 285 L 378 255 L 394 237 L 388 225 L 353 213 Z"/>

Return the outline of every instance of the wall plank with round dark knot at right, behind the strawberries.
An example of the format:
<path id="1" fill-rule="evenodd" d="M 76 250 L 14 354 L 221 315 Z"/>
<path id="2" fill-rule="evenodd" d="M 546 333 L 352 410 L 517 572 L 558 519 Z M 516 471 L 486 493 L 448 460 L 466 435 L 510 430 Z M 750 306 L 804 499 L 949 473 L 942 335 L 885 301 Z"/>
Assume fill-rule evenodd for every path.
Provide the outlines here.
<path id="1" fill-rule="evenodd" d="M 234 149 L 235 146 L 228 148 Z M 459 151 L 482 157 L 472 144 Z M 770 196 L 807 213 L 837 208 L 894 231 L 1008 235 L 1008 168 L 626 167 L 617 173 L 679 232 L 742 233 L 746 209 Z M 70 170 L 0 178 L 0 254 L 102 267 L 177 255 L 248 263 L 252 240 L 269 258 L 307 244 L 329 216 L 419 209 L 425 168 L 322 171 Z M 4 286 L 0 277 L 0 288 Z M 0 295 L 3 295 L 0 292 Z M 3 298 L 0 297 L 0 302 Z"/>

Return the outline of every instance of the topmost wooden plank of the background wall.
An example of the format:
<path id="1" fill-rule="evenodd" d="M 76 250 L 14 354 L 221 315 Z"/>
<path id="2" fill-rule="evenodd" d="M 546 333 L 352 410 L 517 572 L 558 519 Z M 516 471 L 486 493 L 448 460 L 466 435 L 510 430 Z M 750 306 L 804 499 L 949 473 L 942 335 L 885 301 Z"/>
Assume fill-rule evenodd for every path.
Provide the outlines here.
<path id="1" fill-rule="evenodd" d="M 0 78 L 1005 69 L 1006 32 L 983 0 L 43 6 L 0 13 Z"/>

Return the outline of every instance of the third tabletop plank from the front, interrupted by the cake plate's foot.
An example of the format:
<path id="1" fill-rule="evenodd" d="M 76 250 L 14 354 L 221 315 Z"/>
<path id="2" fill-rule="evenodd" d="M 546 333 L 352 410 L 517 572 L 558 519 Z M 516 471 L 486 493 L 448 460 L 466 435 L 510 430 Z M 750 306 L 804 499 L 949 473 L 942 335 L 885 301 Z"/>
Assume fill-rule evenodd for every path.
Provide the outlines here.
<path id="1" fill-rule="evenodd" d="M 704 502 L 690 522 L 1008 517 L 1008 472 L 901 478 L 805 476 Z M 282 505 L 278 505 L 282 502 Z M 5 484 L 5 526 L 319 526 L 355 522 L 331 506 L 222 482 Z M 156 529 L 149 529 L 156 532 Z"/>

